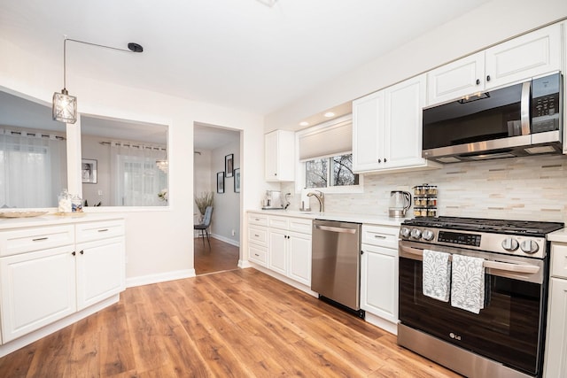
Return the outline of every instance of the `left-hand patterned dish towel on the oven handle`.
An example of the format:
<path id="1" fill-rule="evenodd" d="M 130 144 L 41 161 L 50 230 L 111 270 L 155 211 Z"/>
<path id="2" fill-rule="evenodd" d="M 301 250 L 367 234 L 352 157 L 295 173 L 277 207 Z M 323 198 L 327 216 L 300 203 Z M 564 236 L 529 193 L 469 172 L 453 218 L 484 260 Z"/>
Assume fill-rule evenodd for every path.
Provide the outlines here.
<path id="1" fill-rule="evenodd" d="M 423 250 L 423 295 L 449 300 L 451 262 L 445 252 Z"/>

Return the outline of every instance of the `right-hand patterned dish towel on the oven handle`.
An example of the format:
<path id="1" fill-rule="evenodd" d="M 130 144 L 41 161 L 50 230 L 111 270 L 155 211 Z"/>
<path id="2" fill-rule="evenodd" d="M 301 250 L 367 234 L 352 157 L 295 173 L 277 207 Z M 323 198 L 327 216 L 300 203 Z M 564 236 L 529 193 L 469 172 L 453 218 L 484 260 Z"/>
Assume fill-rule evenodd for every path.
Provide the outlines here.
<path id="1" fill-rule="evenodd" d="M 478 313 L 485 308 L 484 258 L 453 255 L 451 305 Z"/>

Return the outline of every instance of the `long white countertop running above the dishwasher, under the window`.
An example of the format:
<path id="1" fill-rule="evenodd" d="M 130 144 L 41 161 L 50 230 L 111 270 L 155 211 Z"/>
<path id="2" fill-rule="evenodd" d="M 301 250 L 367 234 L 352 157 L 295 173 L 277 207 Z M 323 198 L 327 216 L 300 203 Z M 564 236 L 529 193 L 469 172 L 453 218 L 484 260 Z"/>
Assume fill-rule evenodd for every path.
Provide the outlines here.
<path id="1" fill-rule="evenodd" d="M 307 218 L 311 220 L 342 220 L 346 222 L 367 223 L 383 226 L 400 226 L 405 218 L 390 218 L 377 214 L 353 214 L 348 212 L 299 212 L 287 210 L 249 210 L 260 214 L 282 215 L 286 217 Z"/>

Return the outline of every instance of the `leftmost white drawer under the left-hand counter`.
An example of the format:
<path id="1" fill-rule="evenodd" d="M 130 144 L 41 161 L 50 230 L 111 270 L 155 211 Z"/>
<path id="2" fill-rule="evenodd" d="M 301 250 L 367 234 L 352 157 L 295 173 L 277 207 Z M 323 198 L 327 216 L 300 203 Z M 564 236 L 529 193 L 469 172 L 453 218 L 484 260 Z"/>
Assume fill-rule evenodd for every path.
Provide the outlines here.
<path id="1" fill-rule="evenodd" d="M 0 233 L 0 256 L 46 250 L 73 243 L 73 225 L 19 228 Z"/>

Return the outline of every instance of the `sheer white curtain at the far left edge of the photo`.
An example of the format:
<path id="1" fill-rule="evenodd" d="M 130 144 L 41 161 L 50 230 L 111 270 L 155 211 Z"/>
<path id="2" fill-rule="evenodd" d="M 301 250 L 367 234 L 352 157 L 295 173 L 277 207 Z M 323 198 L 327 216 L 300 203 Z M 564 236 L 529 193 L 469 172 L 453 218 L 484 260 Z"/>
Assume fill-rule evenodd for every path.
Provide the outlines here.
<path id="1" fill-rule="evenodd" d="M 66 181 L 62 138 L 0 128 L 0 207 L 56 207 Z"/>

